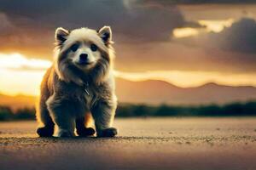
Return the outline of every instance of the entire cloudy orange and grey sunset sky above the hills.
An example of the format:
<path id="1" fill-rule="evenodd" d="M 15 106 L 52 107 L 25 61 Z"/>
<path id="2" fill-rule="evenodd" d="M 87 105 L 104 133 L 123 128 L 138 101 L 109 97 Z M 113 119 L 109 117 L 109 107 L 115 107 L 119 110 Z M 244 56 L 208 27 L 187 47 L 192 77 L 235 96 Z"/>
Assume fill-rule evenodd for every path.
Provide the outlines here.
<path id="1" fill-rule="evenodd" d="M 0 0 L 0 93 L 39 93 L 60 26 L 111 26 L 117 77 L 256 86 L 256 2 L 196 2 Z"/>

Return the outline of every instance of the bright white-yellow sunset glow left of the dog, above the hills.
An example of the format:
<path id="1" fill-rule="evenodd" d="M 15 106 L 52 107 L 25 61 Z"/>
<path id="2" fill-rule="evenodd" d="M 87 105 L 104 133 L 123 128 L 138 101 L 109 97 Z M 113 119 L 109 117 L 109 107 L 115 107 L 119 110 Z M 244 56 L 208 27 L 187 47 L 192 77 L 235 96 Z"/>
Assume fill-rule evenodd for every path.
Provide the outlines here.
<path id="1" fill-rule="evenodd" d="M 44 71 L 51 62 L 22 54 L 0 54 L 0 92 L 9 95 L 39 94 Z"/>

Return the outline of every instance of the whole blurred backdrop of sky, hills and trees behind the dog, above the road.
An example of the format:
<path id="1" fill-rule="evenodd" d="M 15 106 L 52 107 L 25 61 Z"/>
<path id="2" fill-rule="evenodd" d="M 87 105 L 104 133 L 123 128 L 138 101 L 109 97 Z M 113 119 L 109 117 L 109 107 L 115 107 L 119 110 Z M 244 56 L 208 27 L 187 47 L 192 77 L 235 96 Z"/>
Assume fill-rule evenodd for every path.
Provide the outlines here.
<path id="1" fill-rule="evenodd" d="M 56 27 L 105 25 L 117 116 L 256 116 L 253 0 L 0 0 L 0 121 L 34 119 Z"/>

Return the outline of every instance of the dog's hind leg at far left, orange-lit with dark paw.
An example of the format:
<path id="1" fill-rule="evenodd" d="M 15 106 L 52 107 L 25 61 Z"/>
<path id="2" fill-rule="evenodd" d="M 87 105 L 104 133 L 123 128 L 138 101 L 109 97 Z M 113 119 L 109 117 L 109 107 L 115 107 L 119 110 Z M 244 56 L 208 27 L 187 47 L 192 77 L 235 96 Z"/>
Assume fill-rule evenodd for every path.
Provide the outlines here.
<path id="1" fill-rule="evenodd" d="M 37 130 L 38 135 L 40 137 L 51 137 L 54 133 L 55 123 L 49 116 L 44 97 L 39 99 L 39 105 L 37 106 L 37 120 L 39 122 Z"/>

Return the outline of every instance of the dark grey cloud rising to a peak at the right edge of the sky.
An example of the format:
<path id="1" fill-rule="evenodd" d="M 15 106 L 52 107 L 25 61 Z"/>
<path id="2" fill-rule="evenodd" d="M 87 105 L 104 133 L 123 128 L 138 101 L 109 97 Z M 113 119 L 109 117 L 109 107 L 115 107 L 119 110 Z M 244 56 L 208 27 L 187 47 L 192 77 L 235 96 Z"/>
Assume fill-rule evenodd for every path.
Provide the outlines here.
<path id="1" fill-rule="evenodd" d="M 218 33 L 204 33 L 197 37 L 182 38 L 177 42 L 203 48 L 256 54 L 256 21 L 242 18 Z"/>

